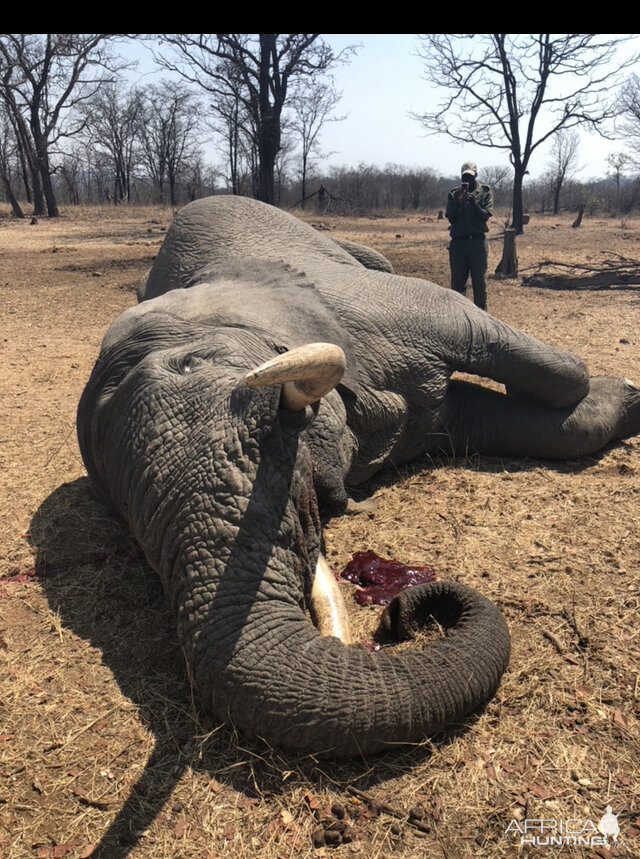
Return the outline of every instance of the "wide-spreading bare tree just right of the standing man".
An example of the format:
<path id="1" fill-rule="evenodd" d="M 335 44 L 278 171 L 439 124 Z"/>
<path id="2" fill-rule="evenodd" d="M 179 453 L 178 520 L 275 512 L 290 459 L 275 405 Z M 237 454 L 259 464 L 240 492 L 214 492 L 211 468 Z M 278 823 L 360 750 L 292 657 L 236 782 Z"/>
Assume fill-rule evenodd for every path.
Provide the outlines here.
<path id="1" fill-rule="evenodd" d="M 626 40 L 606 34 L 437 33 L 421 41 L 426 77 L 447 96 L 416 118 L 430 133 L 509 152 L 517 233 L 533 153 L 561 129 L 585 126 L 604 136 L 603 123 L 617 111 L 611 90 L 637 60 L 620 60 Z"/>

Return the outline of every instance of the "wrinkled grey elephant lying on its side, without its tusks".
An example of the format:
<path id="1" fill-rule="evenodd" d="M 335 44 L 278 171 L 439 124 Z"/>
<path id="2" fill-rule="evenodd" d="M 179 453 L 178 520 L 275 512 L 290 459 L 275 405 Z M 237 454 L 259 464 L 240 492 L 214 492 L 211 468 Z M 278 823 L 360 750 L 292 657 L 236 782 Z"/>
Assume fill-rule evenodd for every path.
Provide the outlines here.
<path id="1" fill-rule="evenodd" d="M 506 626 L 454 583 L 406 591 L 382 624 L 448 628 L 423 649 L 370 653 L 306 615 L 318 509 L 424 453 L 579 457 L 640 429 L 640 392 L 455 292 L 364 268 L 253 200 L 190 204 L 145 299 L 104 339 L 78 433 L 89 474 L 160 574 L 204 705 L 249 736 L 353 755 L 415 742 L 485 701 Z M 281 407 L 249 371 L 303 343 L 338 344 L 342 382 Z M 451 381 L 464 370 L 513 396 Z"/>

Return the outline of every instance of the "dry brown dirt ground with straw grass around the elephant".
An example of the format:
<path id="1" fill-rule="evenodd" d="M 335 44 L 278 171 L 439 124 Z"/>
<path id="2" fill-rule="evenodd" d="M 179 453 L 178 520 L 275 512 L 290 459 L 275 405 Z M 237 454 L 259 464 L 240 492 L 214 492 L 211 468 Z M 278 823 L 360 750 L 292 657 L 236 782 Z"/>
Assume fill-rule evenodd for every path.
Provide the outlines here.
<path id="1" fill-rule="evenodd" d="M 370 548 L 501 607 L 510 667 L 464 725 L 332 763 L 199 710 L 155 575 L 93 499 L 75 438 L 100 340 L 171 217 L 0 215 L 0 857 L 640 856 L 639 438 L 574 463 L 423 461 L 366 487 L 373 513 L 329 523 L 336 569 Z M 307 219 L 447 284 L 435 216 Z M 489 309 L 592 374 L 640 381 L 640 264 L 637 279 L 523 285 L 542 260 L 640 259 L 639 222 L 570 223 L 533 218 Z M 364 626 L 377 610 L 357 611 Z M 594 834 L 607 805 L 617 846 L 520 843 L 525 820 Z"/>

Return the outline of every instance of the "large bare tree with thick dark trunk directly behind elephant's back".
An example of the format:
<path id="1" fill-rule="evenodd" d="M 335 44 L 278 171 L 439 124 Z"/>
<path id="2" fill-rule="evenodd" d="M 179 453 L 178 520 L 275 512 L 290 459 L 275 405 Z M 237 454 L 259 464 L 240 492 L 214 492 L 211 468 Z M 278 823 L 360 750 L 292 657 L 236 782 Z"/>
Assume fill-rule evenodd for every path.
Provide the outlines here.
<path id="1" fill-rule="evenodd" d="M 164 33 L 171 57 L 158 61 L 197 83 L 217 101 L 238 99 L 255 129 L 256 196 L 275 200 L 276 158 L 282 145 L 282 116 L 296 81 L 328 72 L 351 55 L 335 54 L 319 33 Z"/>

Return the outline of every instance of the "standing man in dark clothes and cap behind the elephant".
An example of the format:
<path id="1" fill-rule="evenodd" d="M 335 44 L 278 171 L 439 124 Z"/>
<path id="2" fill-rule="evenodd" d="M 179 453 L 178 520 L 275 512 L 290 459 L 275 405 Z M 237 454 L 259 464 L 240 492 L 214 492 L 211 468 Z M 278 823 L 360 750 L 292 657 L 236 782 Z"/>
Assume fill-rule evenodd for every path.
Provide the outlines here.
<path id="1" fill-rule="evenodd" d="M 451 289 L 465 295 L 467 278 L 471 272 L 473 301 L 487 309 L 487 258 L 489 246 L 487 221 L 493 215 L 493 194 L 488 185 L 478 182 L 478 168 L 472 161 L 462 165 L 462 181 L 449 192 L 447 218 L 451 226 L 449 264 Z"/>

